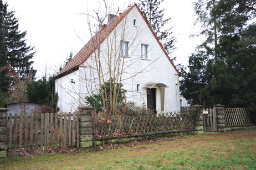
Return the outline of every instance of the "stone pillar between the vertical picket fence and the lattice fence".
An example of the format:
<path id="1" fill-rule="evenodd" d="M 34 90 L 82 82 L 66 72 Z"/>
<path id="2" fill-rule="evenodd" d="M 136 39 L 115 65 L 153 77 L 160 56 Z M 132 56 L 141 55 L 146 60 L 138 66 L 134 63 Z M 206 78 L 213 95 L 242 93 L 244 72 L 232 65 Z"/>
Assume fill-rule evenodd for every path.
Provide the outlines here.
<path id="1" fill-rule="evenodd" d="M 79 146 L 81 148 L 93 146 L 93 110 L 92 107 L 79 107 Z"/>

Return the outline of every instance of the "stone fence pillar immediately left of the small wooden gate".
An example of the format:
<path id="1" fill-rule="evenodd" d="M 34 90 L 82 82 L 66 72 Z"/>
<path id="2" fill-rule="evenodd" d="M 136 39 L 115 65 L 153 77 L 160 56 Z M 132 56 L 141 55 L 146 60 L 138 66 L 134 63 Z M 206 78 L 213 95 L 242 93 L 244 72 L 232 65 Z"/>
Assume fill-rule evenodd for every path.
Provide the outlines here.
<path id="1" fill-rule="evenodd" d="M 203 134 L 203 105 L 192 105 L 192 108 L 196 110 L 196 121 L 194 122 L 195 124 L 195 129 L 197 130 L 197 134 Z"/>

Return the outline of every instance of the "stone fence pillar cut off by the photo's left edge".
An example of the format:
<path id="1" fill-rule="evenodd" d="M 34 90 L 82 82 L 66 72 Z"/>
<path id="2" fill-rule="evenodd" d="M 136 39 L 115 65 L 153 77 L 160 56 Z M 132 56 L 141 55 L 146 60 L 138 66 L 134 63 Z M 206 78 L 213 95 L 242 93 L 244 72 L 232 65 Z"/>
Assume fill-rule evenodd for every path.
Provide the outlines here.
<path id="1" fill-rule="evenodd" d="M 0 160 L 7 157 L 7 111 L 0 108 Z"/>

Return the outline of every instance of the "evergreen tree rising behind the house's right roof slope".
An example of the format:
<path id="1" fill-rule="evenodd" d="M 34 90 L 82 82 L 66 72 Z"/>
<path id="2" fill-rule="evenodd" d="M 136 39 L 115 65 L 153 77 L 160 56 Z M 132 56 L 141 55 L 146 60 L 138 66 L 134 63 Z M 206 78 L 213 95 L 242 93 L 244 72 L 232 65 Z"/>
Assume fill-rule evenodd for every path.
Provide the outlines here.
<path id="1" fill-rule="evenodd" d="M 147 22 L 155 32 L 158 40 L 163 45 L 167 54 L 171 54 L 174 47 L 175 38 L 172 36 L 171 29 L 163 29 L 171 18 L 163 19 L 163 12 L 165 9 L 160 9 L 160 5 L 163 2 L 157 0 L 140 0 L 138 6 L 144 14 Z"/>

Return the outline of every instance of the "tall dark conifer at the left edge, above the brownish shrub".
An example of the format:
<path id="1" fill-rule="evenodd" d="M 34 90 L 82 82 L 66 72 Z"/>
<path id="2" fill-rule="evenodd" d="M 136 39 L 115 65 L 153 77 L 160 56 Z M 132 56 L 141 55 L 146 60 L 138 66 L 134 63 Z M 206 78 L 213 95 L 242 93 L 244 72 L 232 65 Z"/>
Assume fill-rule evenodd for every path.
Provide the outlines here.
<path id="1" fill-rule="evenodd" d="M 1 54 L 7 60 L 9 66 L 16 71 L 21 78 L 35 77 L 36 70 L 33 69 L 31 59 L 34 56 L 34 47 L 27 46 L 26 31 L 19 31 L 18 19 L 14 16 L 14 11 L 8 12 L 8 4 L 0 1 L 1 14 Z"/>

